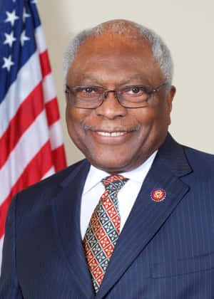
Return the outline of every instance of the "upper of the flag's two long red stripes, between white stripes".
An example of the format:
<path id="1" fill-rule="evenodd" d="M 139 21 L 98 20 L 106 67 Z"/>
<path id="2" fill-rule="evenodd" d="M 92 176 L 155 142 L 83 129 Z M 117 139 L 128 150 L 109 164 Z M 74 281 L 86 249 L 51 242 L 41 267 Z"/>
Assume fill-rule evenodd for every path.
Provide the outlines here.
<path id="1" fill-rule="evenodd" d="M 24 134 L 43 109 L 43 90 L 42 84 L 39 83 L 26 100 L 21 103 L 16 115 L 11 119 L 9 127 L 7 127 L 0 139 L 0 169 L 9 157 L 10 152 L 14 150 L 17 142 L 19 142 L 21 135 Z"/>

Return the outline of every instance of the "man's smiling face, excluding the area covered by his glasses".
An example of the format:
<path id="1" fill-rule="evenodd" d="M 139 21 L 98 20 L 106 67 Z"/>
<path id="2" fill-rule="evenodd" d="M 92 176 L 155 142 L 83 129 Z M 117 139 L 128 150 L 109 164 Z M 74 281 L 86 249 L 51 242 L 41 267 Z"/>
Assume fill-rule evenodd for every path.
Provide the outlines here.
<path id="1" fill-rule="evenodd" d="M 163 83 L 147 41 L 107 33 L 89 37 L 81 45 L 67 76 L 70 87 L 93 85 L 106 90 L 126 85 L 157 88 Z M 174 93 L 174 88 L 168 95 L 160 90 L 140 108 L 122 107 L 113 93 L 96 109 L 76 108 L 67 101 L 68 133 L 93 166 L 110 174 L 129 171 L 165 140 Z M 109 134 L 113 132 L 121 134 Z"/>

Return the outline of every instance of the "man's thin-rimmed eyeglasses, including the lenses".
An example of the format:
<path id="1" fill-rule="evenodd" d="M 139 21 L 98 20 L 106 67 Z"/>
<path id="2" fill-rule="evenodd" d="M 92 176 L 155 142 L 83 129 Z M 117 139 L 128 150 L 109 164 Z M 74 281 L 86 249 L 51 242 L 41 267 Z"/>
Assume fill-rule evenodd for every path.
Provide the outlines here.
<path id="1" fill-rule="evenodd" d="M 149 85 L 131 85 L 121 86 L 116 90 L 106 90 L 100 86 L 76 86 L 69 87 L 66 85 L 66 95 L 69 103 L 77 108 L 96 109 L 101 106 L 103 101 L 108 97 L 108 93 L 114 93 L 114 97 L 121 106 L 126 108 L 140 108 L 148 105 L 154 93 L 157 93 L 168 83 L 164 83 L 154 89 Z"/>

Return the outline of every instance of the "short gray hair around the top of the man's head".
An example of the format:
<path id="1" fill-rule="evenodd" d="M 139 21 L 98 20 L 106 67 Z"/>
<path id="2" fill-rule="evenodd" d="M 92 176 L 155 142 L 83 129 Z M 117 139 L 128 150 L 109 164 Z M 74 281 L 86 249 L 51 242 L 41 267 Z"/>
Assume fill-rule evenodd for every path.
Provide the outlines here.
<path id="1" fill-rule="evenodd" d="M 64 88 L 66 88 L 66 76 L 68 74 L 68 70 L 76 56 L 79 46 L 81 46 L 83 41 L 85 41 L 88 36 L 94 35 L 96 38 L 98 38 L 98 36 L 101 36 L 101 34 L 107 30 L 119 35 L 123 34 L 126 36 L 126 38 L 138 39 L 139 36 L 146 38 L 149 43 L 151 43 L 153 58 L 160 65 L 161 71 L 165 77 L 165 82 L 171 85 L 173 80 L 173 60 L 168 46 L 165 45 L 162 38 L 153 30 L 146 28 L 141 24 L 126 20 L 113 20 L 81 31 L 73 38 L 63 57 Z M 134 32 L 136 32 L 136 34 L 133 34 Z"/>

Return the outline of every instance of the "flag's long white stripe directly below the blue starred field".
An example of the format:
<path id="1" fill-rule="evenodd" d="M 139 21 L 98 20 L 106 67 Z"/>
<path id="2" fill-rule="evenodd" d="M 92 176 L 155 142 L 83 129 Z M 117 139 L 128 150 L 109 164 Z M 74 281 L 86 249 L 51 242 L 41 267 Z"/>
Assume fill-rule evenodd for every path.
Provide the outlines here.
<path id="1" fill-rule="evenodd" d="M 11 85 L 6 97 L 0 105 L 0 137 L 4 134 L 11 118 L 16 115 L 21 103 L 29 93 L 41 82 L 41 69 L 38 53 L 34 53 L 29 61 L 19 70 L 16 81 Z"/>

